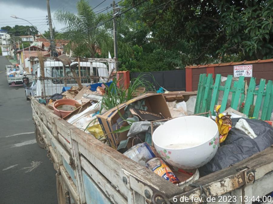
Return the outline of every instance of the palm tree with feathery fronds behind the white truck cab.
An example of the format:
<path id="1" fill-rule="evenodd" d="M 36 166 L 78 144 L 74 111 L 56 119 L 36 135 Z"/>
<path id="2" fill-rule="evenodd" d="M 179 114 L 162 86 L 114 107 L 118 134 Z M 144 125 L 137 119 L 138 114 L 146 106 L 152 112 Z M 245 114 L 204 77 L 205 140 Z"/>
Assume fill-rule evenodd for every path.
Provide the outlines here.
<path id="1" fill-rule="evenodd" d="M 110 15 L 96 15 L 86 0 L 77 2 L 77 11 L 75 15 L 58 10 L 54 15 L 59 23 L 66 26 L 61 35 L 69 40 L 66 51 L 81 57 L 95 57 L 96 53 L 108 56 L 108 51 L 113 50 L 112 31 L 102 23 L 111 18 Z"/>

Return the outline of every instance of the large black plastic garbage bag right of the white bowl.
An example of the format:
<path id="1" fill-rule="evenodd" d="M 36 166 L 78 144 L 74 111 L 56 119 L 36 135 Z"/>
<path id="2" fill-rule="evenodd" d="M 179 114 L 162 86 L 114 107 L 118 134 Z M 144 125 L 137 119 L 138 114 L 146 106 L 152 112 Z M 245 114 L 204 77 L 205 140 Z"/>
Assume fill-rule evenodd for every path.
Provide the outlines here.
<path id="1" fill-rule="evenodd" d="M 236 164 L 273 144 L 273 128 L 267 122 L 244 119 L 257 135 L 252 139 L 243 131 L 234 128 L 239 119 L 241 118 L 232 119 L 233 128 L 228 132 L 226 140 L 221 143 L 221 147 L 218 148 L 212 160 L 198 169 L 200 176 L 206 176 Z"/>

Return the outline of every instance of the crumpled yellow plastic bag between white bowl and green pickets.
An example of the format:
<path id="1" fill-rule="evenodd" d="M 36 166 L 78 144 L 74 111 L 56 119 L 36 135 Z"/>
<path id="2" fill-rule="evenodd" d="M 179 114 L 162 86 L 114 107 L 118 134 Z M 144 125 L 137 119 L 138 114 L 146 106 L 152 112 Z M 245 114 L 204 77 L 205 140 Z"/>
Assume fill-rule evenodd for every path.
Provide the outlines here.
<path id="1" fill-rule="evenodd" d="M 220 143 L 224 142 L 225 139 L 227 138 L 227 134 L 231 129 L 231 119 L 230 115 L 223 115 L 219 114 L 218 111 L 220 109 L 221 105 L 217 105 L 215 111 L 216 111 L 216 118 L 215 122 L 217 123 L 219 134 L 220 134 Z"/>

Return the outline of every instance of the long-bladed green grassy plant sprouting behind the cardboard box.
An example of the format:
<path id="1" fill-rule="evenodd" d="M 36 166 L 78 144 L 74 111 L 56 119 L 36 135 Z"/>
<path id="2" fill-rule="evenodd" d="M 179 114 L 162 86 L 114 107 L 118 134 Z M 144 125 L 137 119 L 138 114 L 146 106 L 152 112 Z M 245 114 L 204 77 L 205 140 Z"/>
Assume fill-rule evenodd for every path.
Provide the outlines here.
<path id="1" fill-rule="evenodd" d="M 103 109 L 109 110 L 117 105 L 133 99 L 139 92 L 138 88 L 144 87 L 145 91 L 155 91 L 153 84 L 145 79 L 148 74 L 141 73 L 136 78 L 131 80 L 131 83 L 127 89 L 122 89 L 117 86 L 117 80 L 114 79 L 113 83 L 108 87 L 106 86 L 106 93 L 101 100 L 100 113 Z M 151 75 L 154 80 L 153 76 Z M 106 84 L 105 84 L 106 85 Z"/>

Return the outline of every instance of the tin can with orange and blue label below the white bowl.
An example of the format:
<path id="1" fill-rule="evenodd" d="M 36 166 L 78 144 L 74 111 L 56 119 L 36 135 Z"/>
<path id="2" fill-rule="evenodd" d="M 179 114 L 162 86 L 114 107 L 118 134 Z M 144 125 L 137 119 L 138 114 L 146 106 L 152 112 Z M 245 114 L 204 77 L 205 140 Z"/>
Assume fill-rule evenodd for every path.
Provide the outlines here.
<path id="1" fill-rule="evenodd" d="M 160 157 L 155 157 L 147 161 L 146 167 L 172 183 L 180 183 L 174 172 Z"/>

